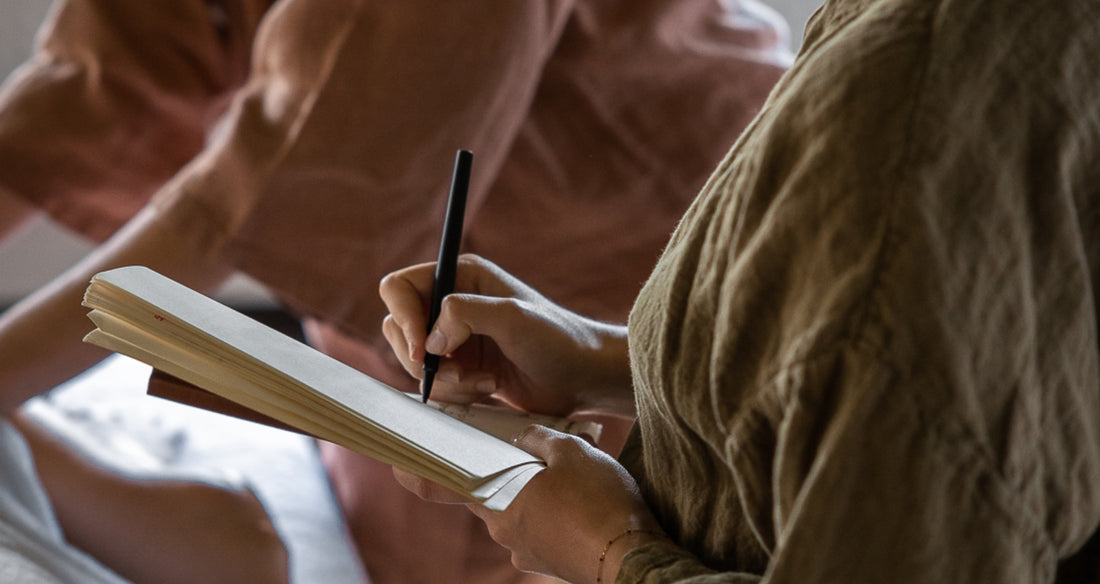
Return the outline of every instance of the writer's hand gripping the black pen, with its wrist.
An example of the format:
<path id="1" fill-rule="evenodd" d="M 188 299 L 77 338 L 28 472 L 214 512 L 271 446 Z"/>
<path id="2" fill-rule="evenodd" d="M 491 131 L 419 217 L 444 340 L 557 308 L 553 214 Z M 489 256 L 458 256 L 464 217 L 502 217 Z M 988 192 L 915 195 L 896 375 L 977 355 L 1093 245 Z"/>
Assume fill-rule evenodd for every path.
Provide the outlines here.
<path id="1" fill-rule="evenodd" d="M 402 364 L 422 376 L 427 351 L 447 355 L 433 397 L 472 403 L 499 397 L 537 414 L 632 417 L 626 327 L 584 318 L 476 255 L 459 261 L 458 294 L 444 298 L 431 334 L 424 307 L 435 264 L 386 276 L 383 331 Z"/>

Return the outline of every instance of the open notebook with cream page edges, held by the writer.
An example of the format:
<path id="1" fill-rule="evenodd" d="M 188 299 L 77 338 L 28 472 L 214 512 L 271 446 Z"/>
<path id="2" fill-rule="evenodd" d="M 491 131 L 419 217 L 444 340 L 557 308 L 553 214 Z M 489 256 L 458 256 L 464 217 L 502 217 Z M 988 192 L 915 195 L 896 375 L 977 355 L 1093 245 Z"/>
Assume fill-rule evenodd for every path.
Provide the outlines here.
<path id="1" fill-rule="evenodd" d="M 468 423 L 471 408 L 452 410 L 466 421 L 449 416 L 146 267 L 96 275 L 84 305 L 97 327 L 86 342 L 491 509 L 506 508 L 544 466 Z"/>

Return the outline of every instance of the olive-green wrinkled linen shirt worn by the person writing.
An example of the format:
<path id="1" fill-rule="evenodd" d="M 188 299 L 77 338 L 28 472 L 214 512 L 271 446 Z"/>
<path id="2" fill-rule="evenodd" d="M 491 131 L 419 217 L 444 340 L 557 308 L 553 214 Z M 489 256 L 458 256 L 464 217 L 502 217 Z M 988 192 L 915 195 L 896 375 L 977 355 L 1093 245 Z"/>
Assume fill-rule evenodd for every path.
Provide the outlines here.
<path id="1" fill-rule="evenodd" d="M 815 13 L 630 315 L 618 582 L 1097 582 L 1097 55 L 1096 0 Z"/>

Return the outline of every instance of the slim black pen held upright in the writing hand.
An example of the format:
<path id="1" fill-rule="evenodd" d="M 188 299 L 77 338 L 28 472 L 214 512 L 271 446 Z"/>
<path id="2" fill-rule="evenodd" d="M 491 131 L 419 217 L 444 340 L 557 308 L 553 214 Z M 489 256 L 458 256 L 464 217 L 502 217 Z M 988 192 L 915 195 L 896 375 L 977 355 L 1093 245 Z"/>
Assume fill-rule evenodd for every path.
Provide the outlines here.
<path id="1" fill-rule="evenodd" d="M 439 242 L 439 260 L 436 262 L 436 282 L 431 286 L 431 307 L 428 309 L 428 333 L 436 326 L 443 297 L 454 291 L 454 273 L 459 262 L 459 243 L 462 242 L 462 219 L 466 212 L 466 190 L 470 187 L 470 167 L 474 155 L 460 150 L 454 155 L 454 175 L 451 177 L 451 192 L 447 198 L 447 216 L 443 219 L 443 235 Z M 420 396 L 428 403 L 431 383 L 439 371 L 439 355 L 424 356 L 424 383 Z"/>

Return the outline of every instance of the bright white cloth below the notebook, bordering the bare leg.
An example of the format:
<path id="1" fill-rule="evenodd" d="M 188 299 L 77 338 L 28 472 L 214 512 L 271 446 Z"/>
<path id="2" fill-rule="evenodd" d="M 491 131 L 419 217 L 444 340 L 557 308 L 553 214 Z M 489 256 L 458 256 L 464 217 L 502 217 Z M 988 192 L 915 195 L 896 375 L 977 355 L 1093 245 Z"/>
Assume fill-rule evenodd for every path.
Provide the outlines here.
<path id="1" fill-rule="evenodd" d="M 123 472 L 243 477 L 286 542 L 293 582 L 366 581 L 311 439 L 148 397 L 148 374 L 114 355 L 28 412 Z"/>

